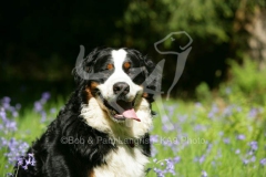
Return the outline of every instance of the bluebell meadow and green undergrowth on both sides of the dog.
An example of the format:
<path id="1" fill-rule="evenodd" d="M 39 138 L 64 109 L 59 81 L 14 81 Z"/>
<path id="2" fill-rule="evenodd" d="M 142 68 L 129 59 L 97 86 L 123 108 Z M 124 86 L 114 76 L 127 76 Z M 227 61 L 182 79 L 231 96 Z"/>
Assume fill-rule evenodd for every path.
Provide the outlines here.
<path id="1" fill-rule="evenodd" d="M 219 90 L 211 92 L 201 84 L 197 101 L 156 100 L 149 177 L 265 176 L 266 70 L 256 70 L 250 62 L 233 66 L 233 80 Z M 1 176 L 12 171 L 16 157 L 45 131 L 65 103 L 62 97 L 48 98 L 43 94 L 20 111 L 7 97 L 0 102 Z"/>

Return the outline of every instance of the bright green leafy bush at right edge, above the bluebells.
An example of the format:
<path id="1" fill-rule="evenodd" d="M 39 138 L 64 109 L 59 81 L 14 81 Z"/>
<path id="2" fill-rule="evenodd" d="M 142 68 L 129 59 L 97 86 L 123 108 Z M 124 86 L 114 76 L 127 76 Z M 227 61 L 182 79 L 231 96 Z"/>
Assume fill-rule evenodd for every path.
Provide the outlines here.
<path id="1" fill-rule="evenodd" d="M 221 85 L 221 94 L 229 100 L 245 97 L 243 102 L 266 103 L 266 70 L 258 62 L 245 59 L 243 64 L 231 60 L 232 79 Z"/>

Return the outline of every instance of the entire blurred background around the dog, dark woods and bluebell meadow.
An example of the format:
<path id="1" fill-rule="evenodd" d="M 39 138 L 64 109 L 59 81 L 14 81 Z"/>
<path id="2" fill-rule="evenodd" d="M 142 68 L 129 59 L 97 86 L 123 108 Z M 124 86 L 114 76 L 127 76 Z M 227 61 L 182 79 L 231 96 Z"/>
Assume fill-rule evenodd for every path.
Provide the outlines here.
<path id="1" fill-rule="evenodd" d="M 153 104 L 154 176 L 265 176 L 266 0 L 21 0 L 0 4 L 0 176 L 47 129 L 74 90 L 80 45 L 134 48 L 165 59 Z M 157 104 L 160 103 L 160 104 Z M 204 144 L 158 142 L 162 137 Z M 164 152 L 164 153 L 161 153 Z M 164 165 L 157 162 L 164 159 Z M 202 174 L 202 175 L 201 175 Z"/>

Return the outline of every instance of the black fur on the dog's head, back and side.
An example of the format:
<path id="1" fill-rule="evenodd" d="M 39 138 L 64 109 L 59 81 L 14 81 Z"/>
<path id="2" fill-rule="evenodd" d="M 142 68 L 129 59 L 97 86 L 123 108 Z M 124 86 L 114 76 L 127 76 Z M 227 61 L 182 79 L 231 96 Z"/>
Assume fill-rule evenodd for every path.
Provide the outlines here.
<path id="1" fill-rule="evenodd" d="M 48 127 L 47 132 L 37 139 L 29 148 L 28 154 L 33 154 L 35 165 L 25 165 L 28 154 L 23 157 L 23 163 L 16 166 L 13 175 L 17 177 L 88 177 L 93 167 L 105 164 L 104 156 L 111 150 L 116 149 L 116 145 L 101 143 L 99 139 L 108 139 L 109 135 L 89 126 L 84 118 L 80 116 L 81 105 L 88 103 L 85 87 L 90 85 L 90 77 L 81 77 L 80 74 L 101 72 L 101 63 L 109 60 L 111 48 L 93 50 L 83 62 L 73 70 L 76 81 L 76 88 L 70 96 L 65 106 L 60 111 L 57 119 Z M 143 66 L 143 72 L 132 80 L 141 85 L 145 82 L 149 73 L 153 71 L 153 63 L 146 60 L 136 50 L 124 49 L 136 66 Z M 82 71 L 82 72 L 81 72 Z M 106 73 L 105 73 L 106 74 Z M 108 73 L 108 77 L 111 73 Z M 130 73 L 129 73 L 130 74 Z M 93 80 L 103 83 L 105 79 Z M 150 88 L 153 88 L 150 84 Z M 150 103 L 153 102 L 152 95 L 145 97 Z M 83 143 L 62 144 L 62 137 L 73 137 Z M 145 134 L 143 138 L 143 154 L 150 156 L 150 136 Z M 88 142 L 90 140 L 90 143 Z"/>

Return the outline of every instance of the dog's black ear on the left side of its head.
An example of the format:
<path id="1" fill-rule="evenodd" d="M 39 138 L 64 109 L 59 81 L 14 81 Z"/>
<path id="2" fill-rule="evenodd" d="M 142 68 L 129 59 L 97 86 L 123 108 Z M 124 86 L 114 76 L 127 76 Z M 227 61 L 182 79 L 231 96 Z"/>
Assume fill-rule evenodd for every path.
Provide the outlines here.
<path id="1" fill-rule="evenodd" d="M 75 83 L 82 83 L 90 80 L 90 73 L 93 73 L 93 64 L 98 58 L 100 49 L 94 49 L 86 58 L 84 58 L 84 46 L 81 45 L 80 54 L 72 70 Z"/>

